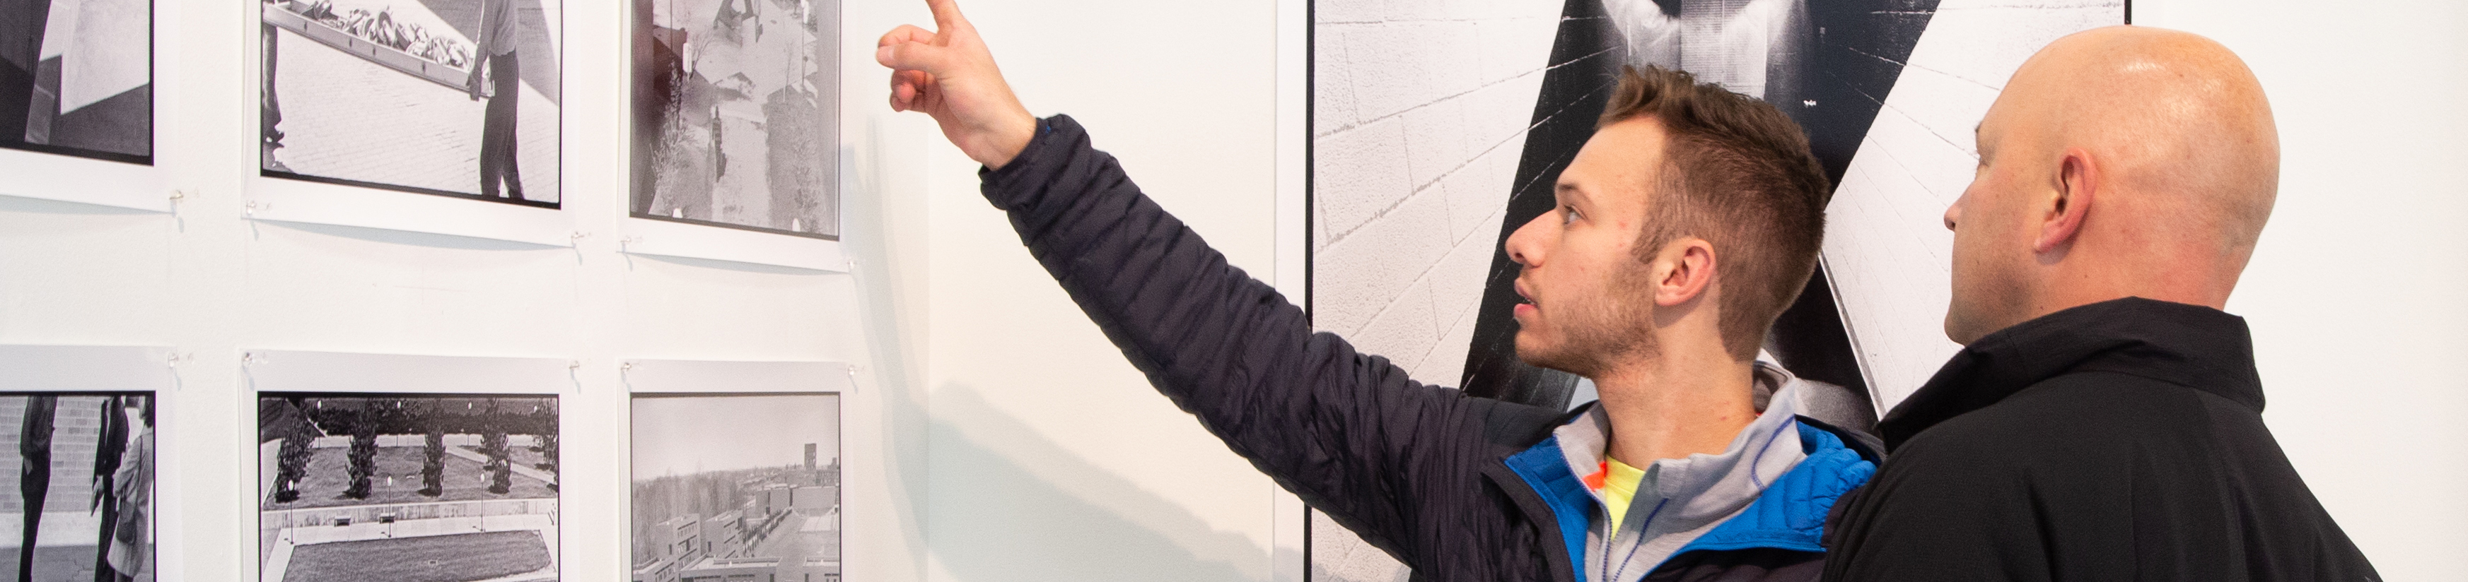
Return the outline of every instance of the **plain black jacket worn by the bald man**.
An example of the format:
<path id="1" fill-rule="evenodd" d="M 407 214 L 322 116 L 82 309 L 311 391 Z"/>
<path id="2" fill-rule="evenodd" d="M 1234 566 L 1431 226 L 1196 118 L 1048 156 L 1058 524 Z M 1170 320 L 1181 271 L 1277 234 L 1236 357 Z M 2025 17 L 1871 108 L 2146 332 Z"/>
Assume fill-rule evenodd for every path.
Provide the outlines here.
<path id="1" fill-rule="evenodd" d="M 1878 422 L 1826 580 L 2379 580 L 2261 412 L 2246 321 L 2214 308 L 1989 333 Z"/>

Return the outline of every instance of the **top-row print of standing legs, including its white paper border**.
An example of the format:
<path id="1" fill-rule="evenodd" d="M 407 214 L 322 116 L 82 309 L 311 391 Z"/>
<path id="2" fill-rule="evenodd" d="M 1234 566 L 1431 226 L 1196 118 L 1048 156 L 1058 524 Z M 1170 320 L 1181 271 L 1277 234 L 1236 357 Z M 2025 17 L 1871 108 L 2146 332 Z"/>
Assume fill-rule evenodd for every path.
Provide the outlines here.
<path id="1" fill-rule="evenodd" d="M 573 244 L 563 2 L 249 5 L 249 219 Z"/>

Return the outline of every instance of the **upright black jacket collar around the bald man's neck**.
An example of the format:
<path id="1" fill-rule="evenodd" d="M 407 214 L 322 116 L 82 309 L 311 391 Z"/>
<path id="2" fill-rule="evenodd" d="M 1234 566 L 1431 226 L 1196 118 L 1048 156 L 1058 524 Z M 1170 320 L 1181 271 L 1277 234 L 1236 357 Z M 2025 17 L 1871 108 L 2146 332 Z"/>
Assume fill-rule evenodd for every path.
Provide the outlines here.
<path id="1" fill-rule="evenodd" d="M 2115 298 L 1989 333 L 1955 353 L 1928 385 L 1886 412 L 1886 449 L 1937 422 L 1997 404 L 2066 372 L 2125 372 L 2197 387 L 2263 412 L 2246 318 L 2206 306 Z"/>

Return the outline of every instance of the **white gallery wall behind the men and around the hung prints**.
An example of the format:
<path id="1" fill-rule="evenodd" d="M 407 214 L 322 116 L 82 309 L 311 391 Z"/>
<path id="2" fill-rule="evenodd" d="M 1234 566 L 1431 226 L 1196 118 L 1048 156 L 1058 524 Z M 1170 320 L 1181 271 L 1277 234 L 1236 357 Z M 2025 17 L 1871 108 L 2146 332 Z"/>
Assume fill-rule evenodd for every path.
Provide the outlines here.
<path id="1" fill-rule="evenodd" d="M 842 20 L 851 274 L 617 252 L 617 5 L 568 5 L 575 249 L 239 219 L 254 2 L 163 2 L 183 17 L 158 22 L 178 47 L 158 62 L 160 163 L 188 197 L 170 215 L 0 197 L 0 343 L 185 355 L 163 407 L 165 580 L 254 572 L 247 348 L 575 360 L 568 580 L 624 577 L 629 358 L 859 365 L 849 580 L 1273 580 L 1298 565 L 1278 550 L 1293 545 L 1273 486 L 1123 363 L 977 195 L 975 163 L 881 106 L 871 39 L 928 25 L 923 2 L 847 2 Z M 1303 86 L 1281 84 L 1296 30 L 1278 25 L 1298 17 L 1281 5 L 1298 2 L 965 10 L 1029 111 L 1081 118 L 1160 205 L 1269 276 L 1298 274 L 1303 237 L 1283 227 L 1298 141 L 1281 131 L 1301 126 L 1278 113 Z M 2280 207 L 2231 301 L 2256 328 L 2266 419 L 2389 580 L 2453 577 L 2468 424 L 2446 414 L 2468 409 L 2448 365 L 2468 353 L 2468 232 L 2451 219 L 2468 215 L 2468 113 L 2451 101 L 2468 91 L 2468 7 L 2135 12 L 2241 52 L 2278 111 Z"/>

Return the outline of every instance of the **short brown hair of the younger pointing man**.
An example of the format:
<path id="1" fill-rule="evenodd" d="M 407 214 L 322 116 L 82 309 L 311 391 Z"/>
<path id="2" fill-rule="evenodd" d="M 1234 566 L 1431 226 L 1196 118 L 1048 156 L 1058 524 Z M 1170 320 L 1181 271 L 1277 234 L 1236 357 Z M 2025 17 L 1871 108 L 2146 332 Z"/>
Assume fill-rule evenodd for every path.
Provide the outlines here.
<path id="1" fill-rule="evenodd" d="M 1824 244 L 1834 187 L 1809 136 L 1772 104 L 1661 67 L 1624 67 L 1594 126 L 1639 116 L 1658 121 L 1668 143 L 1636 254 L 1651 259 L 1678 237 L 1710 242 L 1723 348 L 1755 358 L 1816 274 Z"/>

